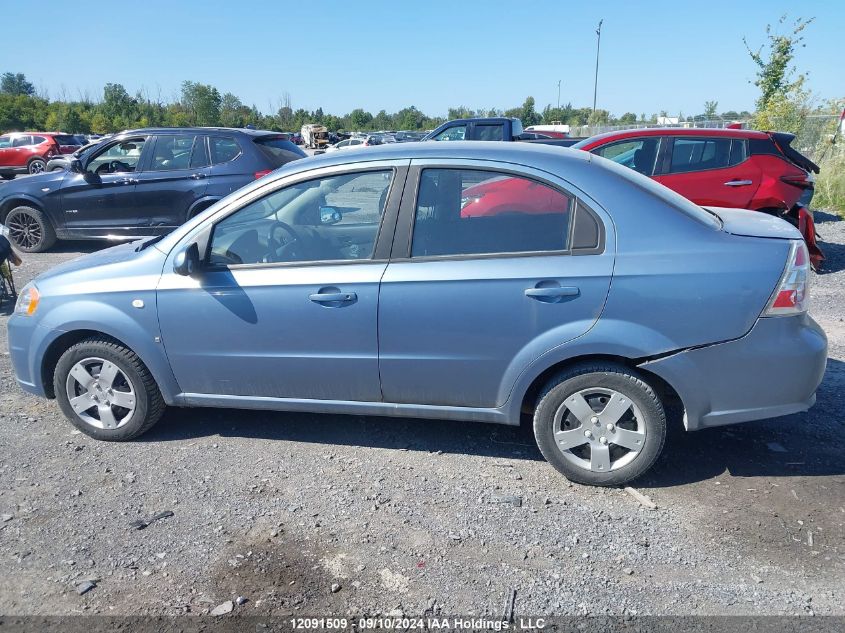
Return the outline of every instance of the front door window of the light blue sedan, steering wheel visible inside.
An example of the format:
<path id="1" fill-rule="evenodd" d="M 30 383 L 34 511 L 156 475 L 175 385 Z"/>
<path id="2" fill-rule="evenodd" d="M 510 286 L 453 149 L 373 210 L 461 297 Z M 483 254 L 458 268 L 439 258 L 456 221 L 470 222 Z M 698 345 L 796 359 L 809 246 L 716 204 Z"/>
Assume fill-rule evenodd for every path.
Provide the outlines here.
<path id="1" fill-rule="evenodd" d="M 373 256 L 392 170 L 309 180 L 274 191 L 214 227 L 212 266 L 366 260 Z"/>

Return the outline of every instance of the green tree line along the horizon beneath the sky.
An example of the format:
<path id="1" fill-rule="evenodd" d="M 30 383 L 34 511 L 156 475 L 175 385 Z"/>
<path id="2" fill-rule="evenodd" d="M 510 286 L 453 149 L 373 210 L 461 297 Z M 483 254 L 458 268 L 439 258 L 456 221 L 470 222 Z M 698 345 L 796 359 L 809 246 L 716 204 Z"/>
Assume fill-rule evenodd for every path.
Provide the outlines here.
<path id="1" fill-rule="evenodd" d="M 281 98 L 281 105 L 270 114 L 261 112 L 255 105 L 248 106 L 231 92 L 221 93 L 216 87 L 194 81 L 184 81 L 180 94 L 170 101 L 150 98 L 139 91 L 131 95 L 119 83 L 107 83 L 98 100 L 49 99 L 37 94 L 35 87 L 22 73 L 6 72 L 0 77 L 0 131 L 11 130 L 61 130 L 69 133 L 107 134 L 137 127 L 224 126 L 297 131 L 306 123 L 321 123 L 332 131 L 337 130 L 429 130 L 447 119 L 473 116 L 518 117 L 523 125 L 559 121 L 569 125 L 626 125 L 655 123 L 658 114 L 646 117 L 626 112 L 619 117 L 607 110 L 575 108 L 572 104 L 561 107 L 547 105 L 536 109 L 533 97 L 527 97 L 521 106 L 501 110 L 497 108 L 471 109 L 465 106 L 449 108 L 446 118 L 429 116 L 415 106 L 388 113 L 375 114 L 356 108 L 338 115 L 324 112 L 322 108 L 294 109 L 290 95 Z M 707 102 L 705 112 L 697 118 L 716 118 L 716 102 Z M 709 109 L 709 110 L 708 110 Z M 660 115 L 665 116 L 665 112 Z M 681 113 L 683 117 L 683 114 Z M 748 112 L 725 112 L 726 119 L 750 116 Z"/>

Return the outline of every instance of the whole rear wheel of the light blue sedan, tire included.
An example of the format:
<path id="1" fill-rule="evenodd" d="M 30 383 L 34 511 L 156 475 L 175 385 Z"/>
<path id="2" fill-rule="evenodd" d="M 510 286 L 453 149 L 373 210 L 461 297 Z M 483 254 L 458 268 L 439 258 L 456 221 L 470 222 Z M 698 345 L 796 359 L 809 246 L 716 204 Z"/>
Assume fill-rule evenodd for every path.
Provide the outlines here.
<path id="1" fill-rule="evenodd" d="M 666 439 L 666 415 L 634 370 L 587 364 L 561 373 L 540 394 L 534 435 L 567 479 L 617 486 L 654 465 Z"/>

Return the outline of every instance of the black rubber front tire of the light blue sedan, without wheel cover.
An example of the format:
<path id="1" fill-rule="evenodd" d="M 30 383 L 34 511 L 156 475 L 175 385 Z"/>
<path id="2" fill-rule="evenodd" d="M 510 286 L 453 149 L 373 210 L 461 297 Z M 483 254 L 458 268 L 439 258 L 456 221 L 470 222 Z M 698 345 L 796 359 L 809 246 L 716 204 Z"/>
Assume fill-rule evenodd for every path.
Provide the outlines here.
<path id="1" fill-rule="evenodd" d="M 134 412 L 117 428 L 98 428 L 86 422 L 70 404 L 68 375 L 77 363 L 92 358 L 113 363 L 134 391 Z M 71 424 L 86 435 L 107 442 L 124 442 L 146 433 L 159 421 L 166 408 L 155 379 L 138 355 L 106 337 L 84 339 L 62 354 L 53 374 L 53 389 L 62 413 Z"/>

